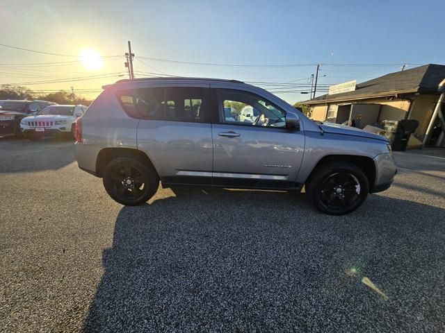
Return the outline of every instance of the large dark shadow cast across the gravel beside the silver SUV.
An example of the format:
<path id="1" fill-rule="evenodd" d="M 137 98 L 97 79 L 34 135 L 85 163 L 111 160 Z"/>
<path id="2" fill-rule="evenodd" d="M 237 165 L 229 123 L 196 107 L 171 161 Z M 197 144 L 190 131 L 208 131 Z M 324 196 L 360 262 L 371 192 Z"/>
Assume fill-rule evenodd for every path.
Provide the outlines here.
<path id="1" fill-rule="evenodd" d="M 85 332 L 445 325 L 443 209 L 371 195 L 353 214 L 327 216 L 280 192 L 175 194 L 118 214 Z"/>

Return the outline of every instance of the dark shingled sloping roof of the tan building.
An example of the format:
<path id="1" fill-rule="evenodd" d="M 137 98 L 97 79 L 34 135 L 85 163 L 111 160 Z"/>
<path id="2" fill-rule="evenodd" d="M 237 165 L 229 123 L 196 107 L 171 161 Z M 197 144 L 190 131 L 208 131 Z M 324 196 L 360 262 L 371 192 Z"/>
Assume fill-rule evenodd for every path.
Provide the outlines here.
<path id="1" fill-rule="evenodd" d="M 372 80 L 356 85 L 354 92 L 341 94 L 325 94 L 315 99 L 305 101 L 305 104 L 318 104 L 332 101 L 351 101 L 355 99 L 368 99 L 380 96 L 394 96 L 395 94 L 410 94 L 419 92 L 423 94 L 438 92 L 439 83 L 445 78 L 445 65 L 423 65 L 405 71 L 373 78 Z"/>

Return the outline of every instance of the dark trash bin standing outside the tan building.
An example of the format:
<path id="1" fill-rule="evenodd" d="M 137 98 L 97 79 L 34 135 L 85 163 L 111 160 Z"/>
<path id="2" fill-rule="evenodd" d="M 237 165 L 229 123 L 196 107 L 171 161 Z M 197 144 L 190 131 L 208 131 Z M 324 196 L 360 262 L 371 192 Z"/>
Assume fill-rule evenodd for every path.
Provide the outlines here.
<path id="1" fill-rule="evenodd" d="M 387 139 L 391 142 L 392 150 L 405 151 L 411 134 L 418 126 L 419 121 L 414 119 L 384 120 L 383 128 L 385 128 Z"/>

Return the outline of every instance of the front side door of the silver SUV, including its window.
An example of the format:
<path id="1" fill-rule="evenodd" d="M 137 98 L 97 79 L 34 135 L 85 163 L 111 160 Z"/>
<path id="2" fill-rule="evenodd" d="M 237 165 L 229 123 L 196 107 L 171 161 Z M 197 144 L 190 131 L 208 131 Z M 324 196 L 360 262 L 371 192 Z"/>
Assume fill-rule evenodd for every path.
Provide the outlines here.
<path id="1" fill-rule="evenodd" d="M 286 111 L 252 92 L 212 92 L 218 103 L 218 117 L 212 124 L 213 185 L 275 189 L 298 186 L 295 181 L 305 135 L 298 129 L 286 128 Z M 224 111 L 229 108 L 234 110 L 235 121 L 226 120 Z M 245 117 L 240 117 L 241 113 Z"/>

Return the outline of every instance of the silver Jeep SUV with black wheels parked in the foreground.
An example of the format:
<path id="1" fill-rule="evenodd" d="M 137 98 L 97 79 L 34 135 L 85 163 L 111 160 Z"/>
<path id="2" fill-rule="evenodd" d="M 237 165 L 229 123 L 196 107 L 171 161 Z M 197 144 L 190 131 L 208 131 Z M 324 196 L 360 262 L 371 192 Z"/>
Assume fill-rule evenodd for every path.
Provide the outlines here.
<path id="1" fill-rule="evenodd" d="M 315 123 L 264 89 L 207 78 L 105 86 L 76 121 L 76 160 L 122 205 L 145 203 L 159 181 L 282 191 L 305 185 L 327 214 L 352 212 L 396 173 L 385 137 Z"/>

